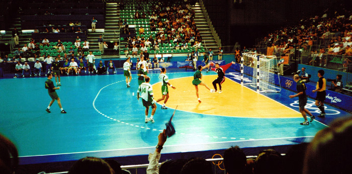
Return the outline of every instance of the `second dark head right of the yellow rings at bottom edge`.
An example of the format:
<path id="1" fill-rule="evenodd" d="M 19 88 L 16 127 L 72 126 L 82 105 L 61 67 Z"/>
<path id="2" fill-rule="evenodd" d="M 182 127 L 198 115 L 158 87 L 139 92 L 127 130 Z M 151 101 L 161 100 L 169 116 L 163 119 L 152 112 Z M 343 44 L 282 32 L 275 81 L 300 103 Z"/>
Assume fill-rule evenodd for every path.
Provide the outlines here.
<path id="1" fill-rule="evenodd" d="M 282 173 L 283 157 L 273 149 L 259 152 L 253 166 L 254 174 L 280 174 Z"/>

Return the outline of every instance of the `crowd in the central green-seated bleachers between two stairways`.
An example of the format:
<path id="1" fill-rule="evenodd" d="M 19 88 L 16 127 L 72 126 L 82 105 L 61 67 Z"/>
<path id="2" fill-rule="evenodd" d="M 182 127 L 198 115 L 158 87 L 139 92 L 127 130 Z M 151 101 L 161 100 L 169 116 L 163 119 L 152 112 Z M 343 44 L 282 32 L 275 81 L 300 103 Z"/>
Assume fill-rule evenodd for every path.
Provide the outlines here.
<path id="1" fill-rule="evenodd" d="M 136 1 L 131 6 L 128 1 L 122 1 L 120 27 L 125 33 L 130 51 L 133 46 L 147 47 L 152 54 L 175 52 L 191 52 L 200 49 L 202 36 L 195 24 L 195 12 L 187 1 Z M 131 34 L 129 25 L 136 25 Z M 121 51 L 124 55 L 125 52 Z"/>

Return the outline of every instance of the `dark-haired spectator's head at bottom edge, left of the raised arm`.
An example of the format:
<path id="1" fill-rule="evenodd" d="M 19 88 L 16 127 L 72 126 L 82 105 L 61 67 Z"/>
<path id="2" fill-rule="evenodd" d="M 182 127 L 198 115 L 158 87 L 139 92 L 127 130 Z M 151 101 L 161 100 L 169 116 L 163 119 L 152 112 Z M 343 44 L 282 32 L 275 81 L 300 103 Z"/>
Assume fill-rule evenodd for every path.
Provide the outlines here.
<path id="1" fill-rule="evenodd" d="M 114 170 L 101 158 L 84 157 L 76 161 L 68 170 L 68 174 L 113 174 Z"/>

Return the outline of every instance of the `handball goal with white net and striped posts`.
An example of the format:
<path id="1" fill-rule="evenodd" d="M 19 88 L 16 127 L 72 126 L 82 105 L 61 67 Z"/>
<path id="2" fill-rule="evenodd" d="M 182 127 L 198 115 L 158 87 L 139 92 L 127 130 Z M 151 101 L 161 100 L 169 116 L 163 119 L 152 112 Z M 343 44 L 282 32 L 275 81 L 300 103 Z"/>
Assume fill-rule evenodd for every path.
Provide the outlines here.
<path id="1" fill-rule="evenodd" d="M 275 75 L 278 69 L 276 56 L 243 53 L 241 59 L 241 84 L 250 85 L 259 93 L 281 91 L 280 78 Z"/>

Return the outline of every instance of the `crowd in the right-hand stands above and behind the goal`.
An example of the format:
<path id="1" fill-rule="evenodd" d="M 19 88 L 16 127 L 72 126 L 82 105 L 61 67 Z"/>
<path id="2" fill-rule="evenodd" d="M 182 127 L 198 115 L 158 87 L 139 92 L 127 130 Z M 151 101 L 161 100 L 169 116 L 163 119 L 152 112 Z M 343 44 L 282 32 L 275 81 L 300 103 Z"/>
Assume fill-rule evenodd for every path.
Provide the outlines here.
<path id="1" fill-rule="evenodd" d="M 347 67 L 352 56 L 352 12 L 345 8 L 325 10 L 321 16 L 301 20 L 299 24 L 282 27 L 262 38 L 258 47 L 272 47 L 280 54 L 302 55 L 311 52 L 310 65 L 326 67 L 327 62 Z M 326 58 L 327 54 L 345 57 Z"/>

